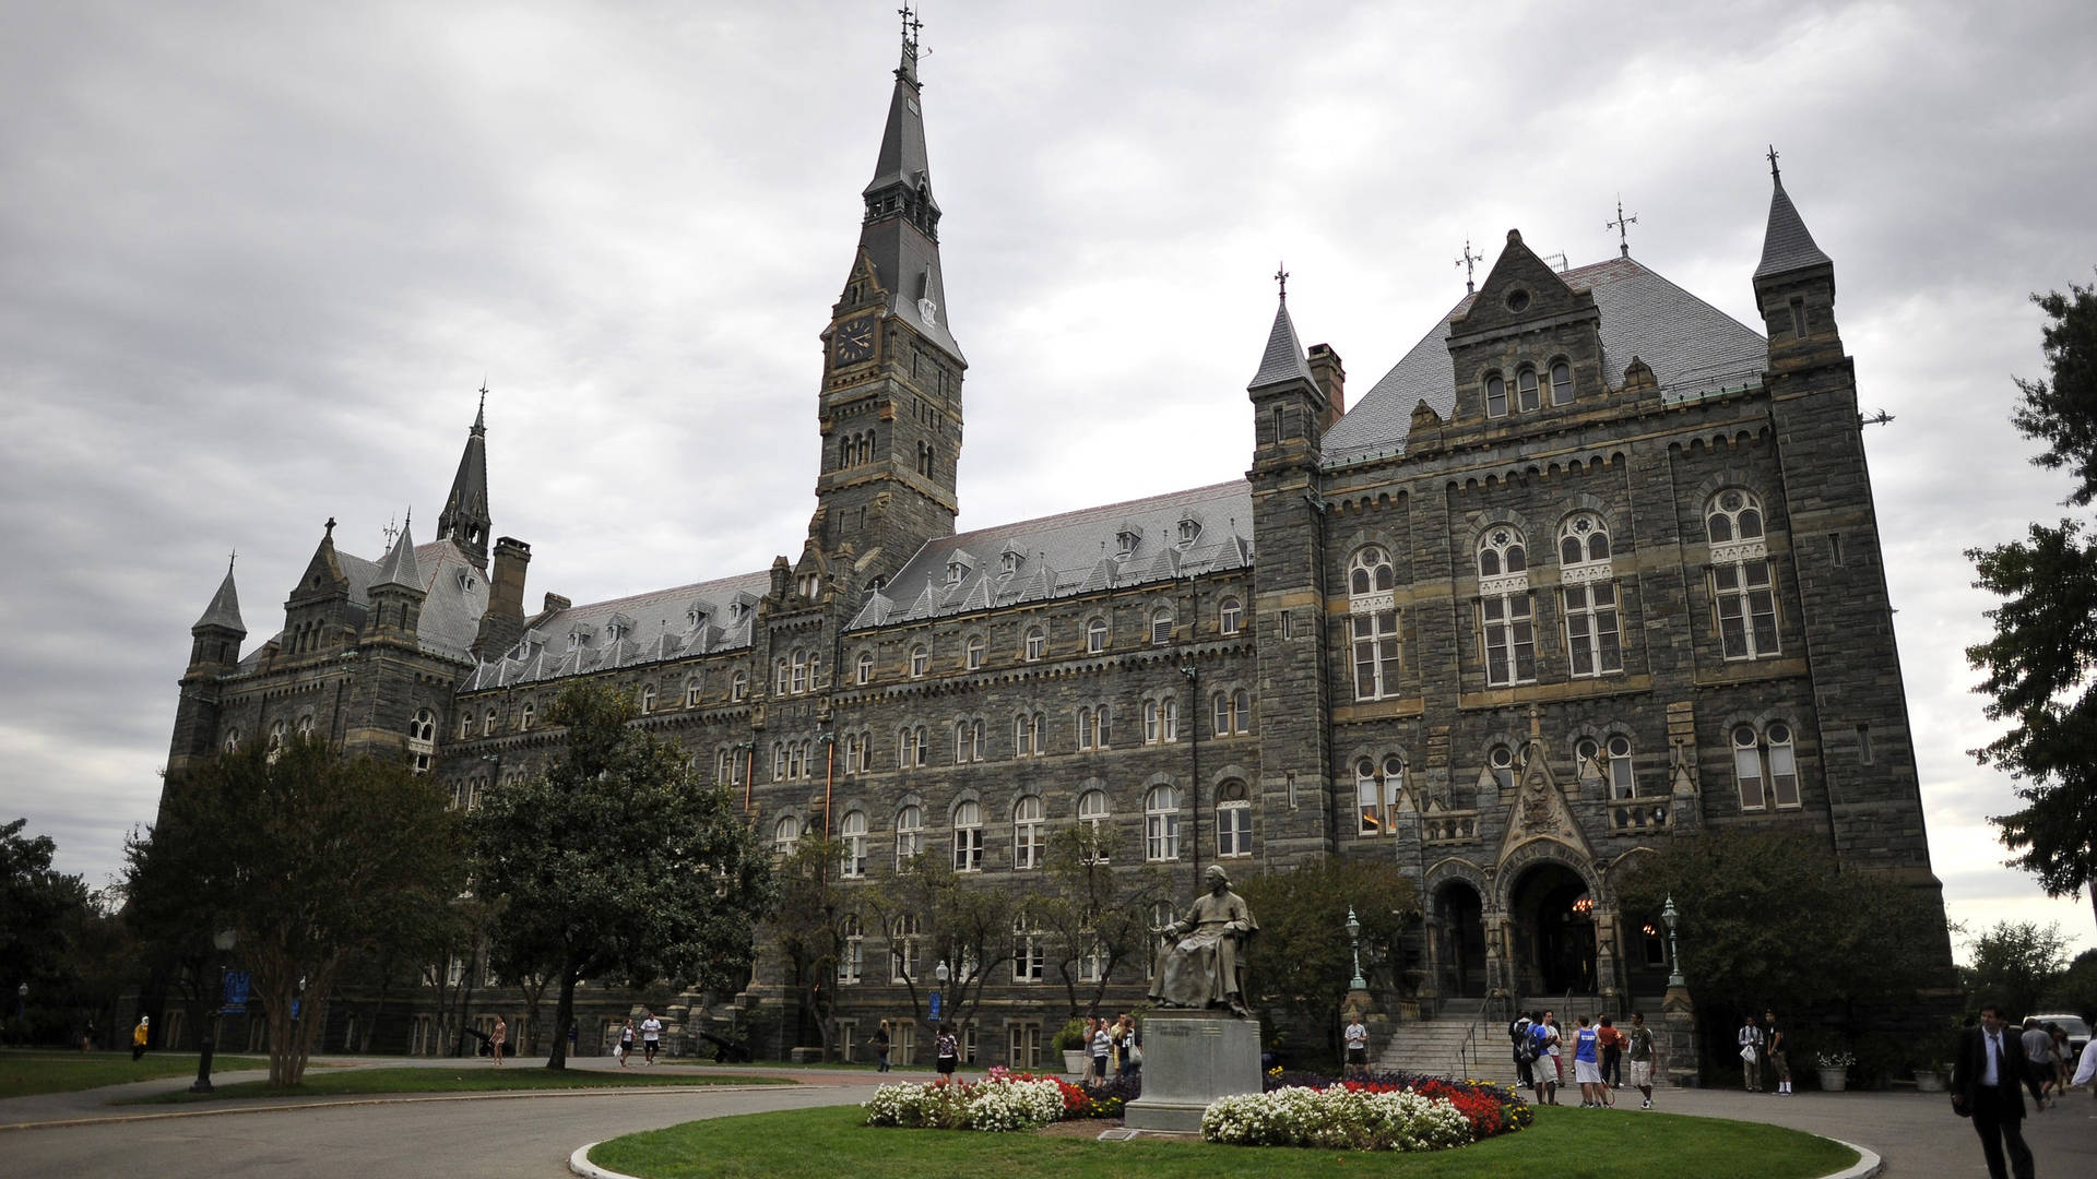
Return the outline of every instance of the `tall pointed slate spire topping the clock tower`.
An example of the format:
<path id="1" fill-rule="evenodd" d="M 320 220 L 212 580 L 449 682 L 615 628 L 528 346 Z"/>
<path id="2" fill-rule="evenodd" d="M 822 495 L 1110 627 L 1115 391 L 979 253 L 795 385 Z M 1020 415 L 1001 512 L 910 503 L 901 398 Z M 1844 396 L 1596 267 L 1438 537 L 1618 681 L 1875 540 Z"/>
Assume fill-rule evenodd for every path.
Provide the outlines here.
<path id="1" fill-rule="evenodd" d="M 925 153 L 923 86 L 918 84 L 918 27 L 904 6 L 902 63 L 889 92 L 889 117 L 881 130 L 874 178 L 860 193 L 866 220 L 860 250 L 874 266 L 887 308 L 916 327 L 929 342 L 960 359 L 960 346 L 946 327 L 946 283 L 939 275 L 939 201 L 931 195 L 931 159 Z M 858 266 L 853 266 L 858 273 Z"/>

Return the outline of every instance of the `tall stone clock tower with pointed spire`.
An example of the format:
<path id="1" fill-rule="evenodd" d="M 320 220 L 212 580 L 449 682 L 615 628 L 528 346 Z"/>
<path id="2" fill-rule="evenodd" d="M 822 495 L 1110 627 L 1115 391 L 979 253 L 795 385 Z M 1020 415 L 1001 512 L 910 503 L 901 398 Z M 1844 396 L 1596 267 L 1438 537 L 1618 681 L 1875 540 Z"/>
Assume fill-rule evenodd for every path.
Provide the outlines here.
<path id="1" fill-rule="evenodd" d="M 954 533 L 969 363 L 946 319 L 916 59 L 906 15 L 860 245 L 822 331 L 822 459 L 801 573 L 856 592 L 885 585 L 927 539 Z"/>

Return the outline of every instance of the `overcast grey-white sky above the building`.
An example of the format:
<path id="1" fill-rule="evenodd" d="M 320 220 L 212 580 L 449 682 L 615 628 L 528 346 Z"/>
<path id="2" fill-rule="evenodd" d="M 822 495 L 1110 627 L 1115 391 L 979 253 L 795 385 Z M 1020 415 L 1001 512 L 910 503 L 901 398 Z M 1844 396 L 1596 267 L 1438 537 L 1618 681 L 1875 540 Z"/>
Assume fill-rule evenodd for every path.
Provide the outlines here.
<path id="1" fill-rule="evenodd" d="M 893 0 L 0 10 L 0 820 L 103 883 L 159 795 L 189 625 L 250 646 L 336 516 L 428 539 L 487 378 L 526 602 L 797 554 Z M 2055 518 L 2011 376 L 2097 264 L 2097 8 L 967 4 L 925 19 L 960 527 L 1237 478 L 1285 258 L 1361 394 L 1510 227 L 1759 327 L 1766 145 L 1835 258 L 1950 915 L 2003 869 L 1965 548 Z M 1699 8 L 1699 13 L 1692 13 Z M 1986 13 L 1982 13 L 1986 8 Z"/>

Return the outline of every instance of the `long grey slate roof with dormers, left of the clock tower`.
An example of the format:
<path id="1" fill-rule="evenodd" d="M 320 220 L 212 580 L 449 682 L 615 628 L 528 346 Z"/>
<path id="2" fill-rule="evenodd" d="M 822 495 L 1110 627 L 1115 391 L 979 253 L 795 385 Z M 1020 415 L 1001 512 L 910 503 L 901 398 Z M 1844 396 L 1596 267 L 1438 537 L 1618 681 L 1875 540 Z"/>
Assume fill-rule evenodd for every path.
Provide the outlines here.
<path id="1" fill-rule="evenodd" d="M 499 659 L 482 661 L 461 690 L 533 684 L 751 646 L 757 600 L 770 590 L 772 573 L 759 569 L 719 581 L 568 606 L 537 619 Z"/>

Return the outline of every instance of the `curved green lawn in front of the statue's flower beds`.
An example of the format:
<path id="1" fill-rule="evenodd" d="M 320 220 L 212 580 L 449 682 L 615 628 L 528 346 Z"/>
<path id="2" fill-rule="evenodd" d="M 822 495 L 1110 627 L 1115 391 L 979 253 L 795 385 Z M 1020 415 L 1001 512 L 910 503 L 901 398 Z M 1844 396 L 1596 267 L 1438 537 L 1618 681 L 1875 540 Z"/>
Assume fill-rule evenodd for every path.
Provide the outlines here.
<path id="1" fill-rule="evenodd" d="M 1434 1179 L 1810 1179 L 1856 1152 L 1799 1131 L 1638 1110 L 1537 1110 L 1537 1124 L 1436 1154 L 1260 1150 L 1202 1141 L 1093 1141 L 862 1127 L 858 1106 L 686 1122 L 589 1152 L 646 1179 L 728 1175 L 835 1179 L 996 1175 L 998 1179 L 1179 1179 L 1231 1175 L 1422 1175 Z"/>

